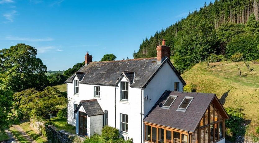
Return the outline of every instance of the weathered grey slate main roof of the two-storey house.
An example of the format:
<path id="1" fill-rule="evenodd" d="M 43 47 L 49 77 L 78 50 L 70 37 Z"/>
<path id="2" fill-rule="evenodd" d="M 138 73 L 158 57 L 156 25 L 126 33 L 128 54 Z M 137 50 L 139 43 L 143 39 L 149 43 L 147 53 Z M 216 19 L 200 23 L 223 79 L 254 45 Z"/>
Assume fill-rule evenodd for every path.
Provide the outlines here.
<path id="1" fill-rule="evenodd" d="M 85 73 L 82 81 L 79 82 L 81 84 L 116 86 L 116 81 L 124 73 L 130 81 L 134 80 L 134 83 L 130 84 L 131 87 L 145 87 L 166 62 L 170 64 L 183 85 L 186 85 L 168 58 L 161 63 L 157 62 L 157 58 L 90 62 L 77 72 Z M 71 83 L 73 79 L 74 75 L 70 76 L 65 83 Z"/>

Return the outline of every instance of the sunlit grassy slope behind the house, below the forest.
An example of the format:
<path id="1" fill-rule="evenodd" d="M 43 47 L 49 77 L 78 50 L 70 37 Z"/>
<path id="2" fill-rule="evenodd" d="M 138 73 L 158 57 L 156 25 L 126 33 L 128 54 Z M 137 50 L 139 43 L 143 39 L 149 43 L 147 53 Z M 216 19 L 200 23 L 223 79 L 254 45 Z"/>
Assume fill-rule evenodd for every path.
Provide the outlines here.
<path id="1" fill-rule="evenodd" d="M 242 77 L 238 75 L 237 65 Z M 214 62 L 196 64 L 181 76 L 187 84 L 197 85 L 197 92 L 216 93 L 224 107 L 242 107 L 249 125 L 246 135 L 256 135 L 259 126 L 259 64 L 250 64 L 249 72 L 243 62 Z M 258 135 L 257 135 L 258 136 Z"/>

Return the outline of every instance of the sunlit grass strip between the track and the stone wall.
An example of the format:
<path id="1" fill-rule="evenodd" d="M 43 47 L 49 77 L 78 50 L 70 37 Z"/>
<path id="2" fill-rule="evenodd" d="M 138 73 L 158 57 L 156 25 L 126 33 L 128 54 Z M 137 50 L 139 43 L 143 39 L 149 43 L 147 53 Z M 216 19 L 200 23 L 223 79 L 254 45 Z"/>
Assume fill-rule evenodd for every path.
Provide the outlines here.
<path id="1" fill-rule="evenodd" d="M 30 122 L 23 122 L 20 124 L 20 127 L 36 142 L 45 143 L 48 142 L 46 138 L 41 136 L 41 134 L 37 133 L 30 127 Z"/>

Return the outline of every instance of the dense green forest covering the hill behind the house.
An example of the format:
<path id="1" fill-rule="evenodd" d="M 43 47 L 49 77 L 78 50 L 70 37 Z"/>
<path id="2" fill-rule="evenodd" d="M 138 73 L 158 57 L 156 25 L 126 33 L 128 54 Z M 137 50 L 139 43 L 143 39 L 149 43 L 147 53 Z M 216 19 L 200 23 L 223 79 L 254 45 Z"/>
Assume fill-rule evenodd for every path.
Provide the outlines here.
<path id="1" fill-rule="evenodd" d="M 171 59 L 183 73 L 211 54 L 230 59 L 259 59 L 259 0 L 215 0 L 205 3 L 186 18 L 146 38 L 133 53 L 134 58 L 156 57 L 156 47 L 166 39 Z"/>

